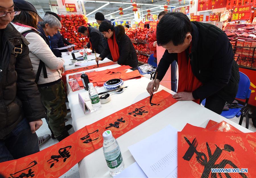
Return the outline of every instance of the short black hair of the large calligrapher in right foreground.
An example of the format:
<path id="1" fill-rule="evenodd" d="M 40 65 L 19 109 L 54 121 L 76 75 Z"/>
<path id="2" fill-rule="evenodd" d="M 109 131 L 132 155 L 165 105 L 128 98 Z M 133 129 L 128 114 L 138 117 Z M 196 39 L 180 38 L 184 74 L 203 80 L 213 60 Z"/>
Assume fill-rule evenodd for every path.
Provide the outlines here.
<path id="1" fill-rule="evenodd" d="M 191 22 L 181 12 L 169 12 L 163 16 L 156 27 L 157 45 L 166 45 L 170 41 L 175 46 L 184 42 L 187 32 L 192 32 Z"/>

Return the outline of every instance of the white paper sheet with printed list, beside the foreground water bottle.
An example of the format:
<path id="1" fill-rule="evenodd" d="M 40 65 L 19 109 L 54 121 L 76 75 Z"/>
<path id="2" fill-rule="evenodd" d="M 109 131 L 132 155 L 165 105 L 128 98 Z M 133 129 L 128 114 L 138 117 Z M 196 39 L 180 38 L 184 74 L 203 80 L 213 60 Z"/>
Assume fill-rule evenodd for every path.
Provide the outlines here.
<path id="1" fill-rule="evenodd" d="M 167 177 L 177 167 L 177 130 L 168 125 L 128 149 L 147 177 Z"/>

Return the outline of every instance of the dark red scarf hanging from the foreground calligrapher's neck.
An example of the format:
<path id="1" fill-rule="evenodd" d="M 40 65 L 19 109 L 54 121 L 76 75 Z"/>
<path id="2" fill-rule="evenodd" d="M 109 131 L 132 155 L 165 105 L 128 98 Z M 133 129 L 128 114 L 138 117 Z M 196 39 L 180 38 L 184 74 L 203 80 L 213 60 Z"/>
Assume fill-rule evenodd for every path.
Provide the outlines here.
<path id="1" fill-rule="evenodd" d="M 191 46 L 189 48 L 189 53 L 191 53 Z M 186 51 L 178 53 L 178 68 L 179 68 L 179 84 L 178 91 L 182 92 L 193 92 L 198 87 L 202 86 L 201 81 L 199 81 L 193 74 L 190 65 L 190 59 L 187 61 Z M 193 100 L 194 102 L 200 102 L 200 99 Z"/>

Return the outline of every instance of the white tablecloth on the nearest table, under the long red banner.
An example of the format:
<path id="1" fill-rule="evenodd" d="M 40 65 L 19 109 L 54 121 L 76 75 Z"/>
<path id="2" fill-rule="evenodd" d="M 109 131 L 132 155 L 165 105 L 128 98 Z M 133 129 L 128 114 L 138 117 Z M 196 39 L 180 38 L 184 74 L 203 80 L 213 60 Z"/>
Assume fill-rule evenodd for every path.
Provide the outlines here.
<path id="1" fill-rule="evenodd" d="M 110 66 L 107 66 L 106 68 L 108 67 Z M 101 69 L 104 70 L 106 68 Z M 123 93 L 112 95 L 110 102 L 102 104 L 102 108 L 100 110 L 91 112 L 87 115 L 84 115 L 79 106 L 78 93 L 84 97 L 88 97 L 88 91 L 79 90 L 69 92 L 69 107 L 71 109 L 72 124 L 75 131 L 148 97 L 149 94 L 146 91 L 146 87 L 150 81 L 151 80 L 146 77 L 124 81 L 124 85 L 129 87 L 125 89 Z M 106 91 L 103 87 L 97 87 L 96 89 L 98 93 Z M 175 94 L 173 91 L 160 85 L 158 91 L 161 91 L 162 89 L 171 94 Z M 245 127 L 242 127 L 241 125 L 238 125 L 193 101 L 178 101 L 169 108 L 163 110 L 159 114 L 117 138 L 125 167 L 128 167 L 135 162 L 133 156 L 128 150 L 128 146 L 160 131 L 168 124 L 181 131 L 186 123 L 205 127 L 209 119 L 216 122 L 225 120 L 242 132 L 251 132 Z M 111 177 L 102 148 L 89 154 L 79 162 L 79 173 L 80 177 Z"/>

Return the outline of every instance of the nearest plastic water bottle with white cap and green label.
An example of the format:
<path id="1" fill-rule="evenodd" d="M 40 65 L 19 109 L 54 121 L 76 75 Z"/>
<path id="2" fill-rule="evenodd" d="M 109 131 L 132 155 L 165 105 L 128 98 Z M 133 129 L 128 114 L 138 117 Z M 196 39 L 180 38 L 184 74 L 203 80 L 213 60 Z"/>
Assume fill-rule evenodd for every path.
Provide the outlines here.
<path id="1" fill-rule="evenodd" d="M 124 163 L 121 150 L 110 130 L 106 130 L 103 136 L 103 152 L 109 168 L 110 175 L 115 176 L 123 171 Z"/>

